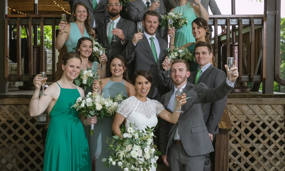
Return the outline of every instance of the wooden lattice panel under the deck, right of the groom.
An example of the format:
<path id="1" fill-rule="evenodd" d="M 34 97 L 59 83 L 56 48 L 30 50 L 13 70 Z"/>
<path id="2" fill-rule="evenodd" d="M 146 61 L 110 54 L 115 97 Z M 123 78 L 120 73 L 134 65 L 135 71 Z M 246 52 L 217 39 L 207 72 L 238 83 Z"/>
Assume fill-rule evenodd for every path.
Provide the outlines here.
<path id="1" fill-rule="evenodd" d="M 284 171 L 284 105 L 228 104 L 229 170 Z"/>

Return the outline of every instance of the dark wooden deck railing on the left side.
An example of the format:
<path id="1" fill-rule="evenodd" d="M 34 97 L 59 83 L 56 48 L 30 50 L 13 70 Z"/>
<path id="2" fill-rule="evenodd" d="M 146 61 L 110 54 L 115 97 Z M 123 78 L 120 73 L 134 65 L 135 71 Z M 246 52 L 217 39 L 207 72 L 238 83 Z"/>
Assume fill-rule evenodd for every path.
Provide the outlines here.
<path id="1" fill-rule="evenodd" d="M 55 26 L 60 23 L 60 15 L 6 15 L 5 19 L 5 80 L 9 81 L 31 81 L 39 74 L 33 70 L 33 44 L 32 44 L 32 27 L 40 26 L 40 71 L 46 71 L 46 58 L 44 58 L 44 26 L 52 25 L 52 74 L 47 75 L 48 80 L 55 79 L 56 72 L 56 56 L 55 56 Z M 9 26 L 17 28 L 17 74 L 9 74 Z M 28 38 L 28 74 L 23 74 L 22 58 L 21 58 L 21 25 L 26 25 Z M 14 47 L 13 47 L 14 48 Z"/>

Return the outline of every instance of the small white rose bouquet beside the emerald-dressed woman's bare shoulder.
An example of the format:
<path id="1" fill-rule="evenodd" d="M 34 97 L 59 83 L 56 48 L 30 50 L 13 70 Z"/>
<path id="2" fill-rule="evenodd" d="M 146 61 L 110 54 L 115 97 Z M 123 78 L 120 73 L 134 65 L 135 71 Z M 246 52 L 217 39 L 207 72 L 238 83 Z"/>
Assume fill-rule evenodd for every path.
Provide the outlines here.
<path id="1" fill-rule="evenodd" d="M 83 70 L 80 70 L 78 77 L 74 79 L 74 83 L 78 87 L 83 86 L 83 89 L 86 90 L 87 87 L 90 87 L 91 84 L 93 84 L 96 74 L 94 74 L 93 70 L 89 67 L 87 67 L 87 70 L 84 70 L 83 68 Z"/>

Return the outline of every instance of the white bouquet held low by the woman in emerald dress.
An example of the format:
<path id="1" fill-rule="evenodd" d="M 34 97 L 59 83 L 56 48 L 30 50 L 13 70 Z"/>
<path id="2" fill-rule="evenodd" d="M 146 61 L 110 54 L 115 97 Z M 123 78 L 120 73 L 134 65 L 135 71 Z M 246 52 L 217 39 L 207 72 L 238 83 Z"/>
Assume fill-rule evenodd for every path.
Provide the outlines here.
<path id="1" fill-rule="evenodd" d="M 101 118 L 103 116 L 114 116 L 118 104 L 121 103 L 127 97 L 117 94 L 114 98 L 104 99 L 102 95 L 99 95 L 97 92 L 89 92 L 84 99 L 78 97 L 75 104 L 72 106 L 79 111 L 80 114 L 87 116 L 91 119 L 92 116 L 99 115 Z M 100 119 L 100 118 L 98 118 Z M 94 133 L 94 124 L 91 124 L 90 135 Z"/>

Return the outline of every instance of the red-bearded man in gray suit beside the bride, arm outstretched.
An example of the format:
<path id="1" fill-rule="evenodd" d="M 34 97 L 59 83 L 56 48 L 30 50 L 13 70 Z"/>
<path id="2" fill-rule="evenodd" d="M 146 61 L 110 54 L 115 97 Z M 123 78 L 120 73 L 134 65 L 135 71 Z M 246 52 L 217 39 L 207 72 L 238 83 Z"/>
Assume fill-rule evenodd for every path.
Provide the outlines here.
<path id="1" fill-rule="evenodd" d="M 162 104 L 168 111 L 173 112 L 178 88 L 184 88 L 187 102 L 182 106 L 184 112 L 180 114 L 178 122 L 170 125 L 170 132 L 165 139 L 167 145 L 164 157 L 167 158 L 171 171 L 203 170 L 205 154 L 214 150 L 203 120 L 205 103 L 219 101 L 231 92 L 239 76 L 237 69 L 236 66 L 232 68 L 232 82 L 225 79 L 220 86 L 208 89 L 203 83 L 195 86 L 187 82 L 190 76 L 188 62 L 175 60 L 172 63 L 171 79 L 175 87 L 162 96 Z M 227 75 L 229 76 L 229 73 Z"/>

